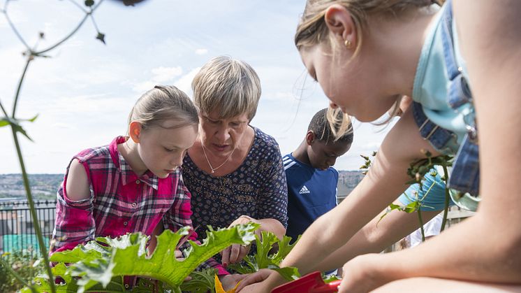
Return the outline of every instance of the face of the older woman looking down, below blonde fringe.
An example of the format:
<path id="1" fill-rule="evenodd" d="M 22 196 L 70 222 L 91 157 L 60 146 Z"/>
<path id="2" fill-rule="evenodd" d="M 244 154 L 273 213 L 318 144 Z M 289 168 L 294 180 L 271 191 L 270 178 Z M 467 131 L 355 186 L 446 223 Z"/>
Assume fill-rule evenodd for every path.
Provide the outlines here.
<path id="1" fill-rule="evenodd" d="M 200 113 L 201 143 L 217 157 L 228 157 L 241 142 L 248 127 L 246 113 L 235 117 L 219 119 L 217 110 Z"/>

